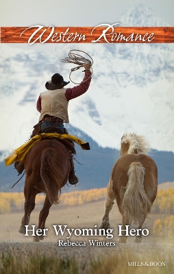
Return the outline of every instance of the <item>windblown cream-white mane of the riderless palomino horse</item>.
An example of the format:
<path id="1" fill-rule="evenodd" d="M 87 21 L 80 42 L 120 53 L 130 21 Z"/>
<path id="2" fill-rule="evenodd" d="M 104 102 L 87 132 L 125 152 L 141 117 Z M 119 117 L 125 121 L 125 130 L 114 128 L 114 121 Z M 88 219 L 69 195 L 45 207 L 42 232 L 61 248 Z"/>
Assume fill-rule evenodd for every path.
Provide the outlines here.
<path id="1" fill-rule="evenodd" d="M 142 152 L 148 154 L 151 150 L 149 142 L 144 136 L 138 136 L 134 133 L 124 134 L 121 138 L 121 145 L 126 144 L 127 142 L 129 142 L 128 154 L 135 153 L 135 151 L 137 151 L 137 153 Z"/>

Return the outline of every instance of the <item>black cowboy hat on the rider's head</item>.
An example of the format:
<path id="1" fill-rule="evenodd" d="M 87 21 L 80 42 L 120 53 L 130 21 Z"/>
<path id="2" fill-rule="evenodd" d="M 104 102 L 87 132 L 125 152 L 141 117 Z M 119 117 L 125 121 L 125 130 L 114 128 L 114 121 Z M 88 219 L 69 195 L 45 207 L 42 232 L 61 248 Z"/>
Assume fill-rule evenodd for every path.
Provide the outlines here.
<path id="1" fill-rule="evenodd" d="M 45 87 L 47 88 L 47 90 L 57 90 L 59 88 L 63 88 L 63 86 L 66 86 L 67 84 L 69 84 L 69 82 L 64 82 L 64 78 L 62 77 L 62 75 L 60 75 L 59 73 L 55 73 L 51 77 L 51 81 L 48 81 L 45 84 Z"/>

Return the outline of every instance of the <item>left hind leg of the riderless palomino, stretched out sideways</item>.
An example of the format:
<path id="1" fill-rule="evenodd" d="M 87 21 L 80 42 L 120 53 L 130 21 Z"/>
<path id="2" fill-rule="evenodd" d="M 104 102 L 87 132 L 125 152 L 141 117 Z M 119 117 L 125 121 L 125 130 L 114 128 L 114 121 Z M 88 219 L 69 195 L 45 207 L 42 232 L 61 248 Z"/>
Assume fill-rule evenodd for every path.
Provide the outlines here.
<path id="1" fill-rule="evenodd" d="M 109 214 L 110 214 L 110 210 L 112 210 L 112 206 L 114 204 L 114 193 L 112 192 L 112 184 L 111 184 L 111 180 L 108 184 L 108 188 L 107 188 L 107 195 L 105 197 L 105 211 L 104 211 L 104 215 L 102 218 L 102 222 L 100 225 L 100 228 L 103 229 L 108 229 L 110 228 L 110 218 L 109 218 Z"/>

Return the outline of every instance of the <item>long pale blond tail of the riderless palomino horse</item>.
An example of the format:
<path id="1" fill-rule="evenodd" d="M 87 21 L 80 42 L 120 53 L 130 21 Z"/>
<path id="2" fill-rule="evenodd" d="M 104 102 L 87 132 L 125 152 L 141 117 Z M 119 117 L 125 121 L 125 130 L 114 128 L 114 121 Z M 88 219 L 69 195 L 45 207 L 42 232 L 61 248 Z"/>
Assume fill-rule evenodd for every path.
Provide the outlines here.
<path id="1" fill-rule="evenodd" d="M 129 180 L 123 197 L 122 209 L 129 225 L 132 222 L 140 224 L 145 221 L 152 206 L 144 188 L 145 168 L 140 162 L 133 162 L 129 166 L 127 175 Z"/>

